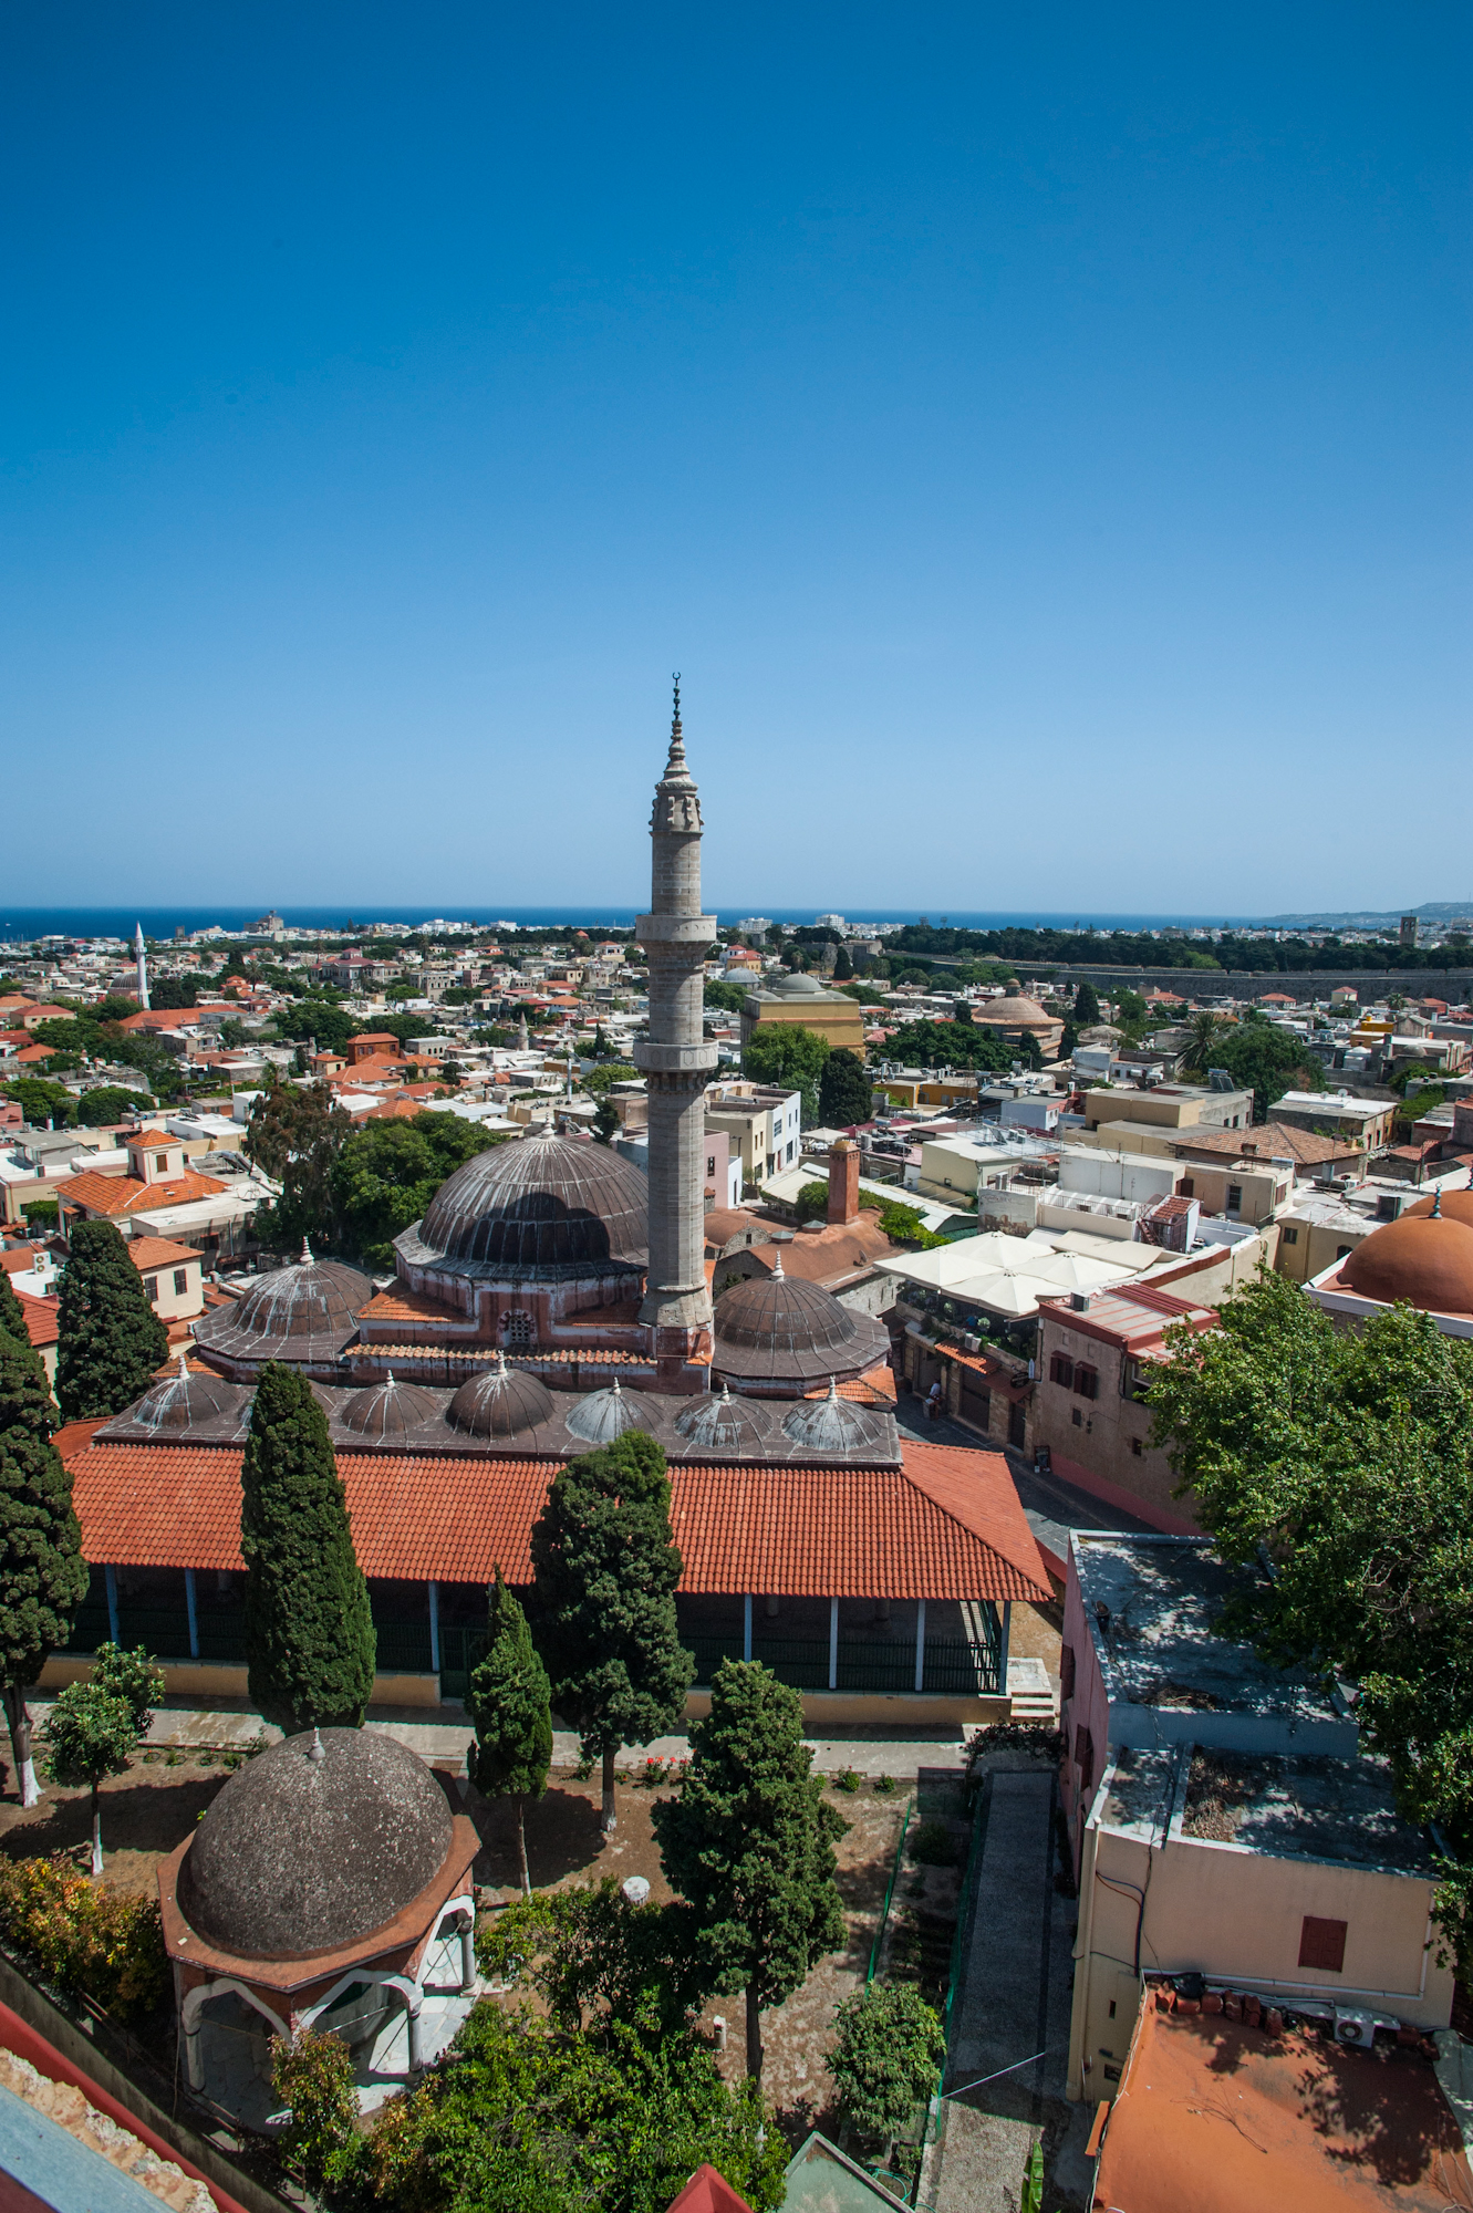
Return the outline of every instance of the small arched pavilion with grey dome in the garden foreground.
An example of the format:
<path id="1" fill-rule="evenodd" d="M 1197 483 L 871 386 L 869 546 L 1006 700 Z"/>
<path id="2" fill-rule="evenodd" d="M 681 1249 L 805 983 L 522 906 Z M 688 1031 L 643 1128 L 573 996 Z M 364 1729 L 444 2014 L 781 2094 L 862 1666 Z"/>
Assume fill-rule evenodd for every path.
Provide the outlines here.
<path id="1" fill-rule="evenodd" d="M 332 2032 L 380 2089 L 438 2058 L 476 1996 L 478 1850 L 383 1731 L 312 1731 L 239 1768 L 159 1868 L 190 2089 L 259 2127 L 272 2036 Z"/>

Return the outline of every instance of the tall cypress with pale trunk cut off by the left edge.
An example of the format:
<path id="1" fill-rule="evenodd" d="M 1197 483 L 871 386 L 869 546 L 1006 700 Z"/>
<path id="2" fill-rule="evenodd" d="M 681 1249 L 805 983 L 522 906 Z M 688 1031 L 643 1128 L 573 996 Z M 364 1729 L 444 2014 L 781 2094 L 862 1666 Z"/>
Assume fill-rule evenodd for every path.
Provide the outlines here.
<path id="1" fill-rule="evenodd" d="M 86 1596 L 71 1476 L 51 1443 L 55 1407 L 31 1346 L 0 1330 L 0 1691 L 20 1804 L 35 1806 L 27 1684 L 66 1644 Z"/>

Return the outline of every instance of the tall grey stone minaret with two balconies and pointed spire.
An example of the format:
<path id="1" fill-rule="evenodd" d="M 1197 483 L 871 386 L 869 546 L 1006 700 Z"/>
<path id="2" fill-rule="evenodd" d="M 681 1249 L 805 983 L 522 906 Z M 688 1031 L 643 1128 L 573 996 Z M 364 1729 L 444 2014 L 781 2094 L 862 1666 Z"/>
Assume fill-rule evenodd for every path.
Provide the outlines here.
<path id="1" fill-rule="evenodd" d="M 639 1319 L 655 1332 L 666 1388 L 679 1390 L 679 1370 L 710 1330 L 706 1084 L 717 1067 L 717 1047 L 701 1038 L 706 947 L 714 943 L 717 916 L 701 914 L 701 801 L 686 766 L 679 675 L 650 841 L 650 912 L 635 923 L 650 963 L 650 1038 L 635 1047 L 650 1093 L 650 1266 Z"/>

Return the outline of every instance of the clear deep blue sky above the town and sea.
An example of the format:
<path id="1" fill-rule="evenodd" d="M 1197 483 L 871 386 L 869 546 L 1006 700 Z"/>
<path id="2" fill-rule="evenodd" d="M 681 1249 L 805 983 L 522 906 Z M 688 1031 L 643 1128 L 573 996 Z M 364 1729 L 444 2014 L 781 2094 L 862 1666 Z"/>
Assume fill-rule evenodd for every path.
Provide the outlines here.
<path id="1" fill-rule="evenodd" d="M 9 898 L 1473 894 L 1464 4 L 11 4 Z"/>

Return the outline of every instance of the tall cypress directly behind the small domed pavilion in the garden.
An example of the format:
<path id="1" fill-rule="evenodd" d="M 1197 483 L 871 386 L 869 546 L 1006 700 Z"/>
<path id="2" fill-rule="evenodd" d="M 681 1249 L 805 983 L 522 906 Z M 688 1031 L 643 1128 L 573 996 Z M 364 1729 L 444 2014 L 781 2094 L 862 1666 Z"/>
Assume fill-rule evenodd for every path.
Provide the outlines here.
<path id="1" fill-rule="evenodd" d="M 363 1728 L 374 1624 L 347 1494 L 312 1385 L 268 1361 L 241 1463 L 250 1697 L 288 1735 Z"/>

